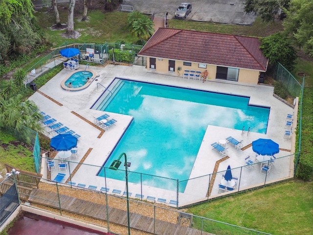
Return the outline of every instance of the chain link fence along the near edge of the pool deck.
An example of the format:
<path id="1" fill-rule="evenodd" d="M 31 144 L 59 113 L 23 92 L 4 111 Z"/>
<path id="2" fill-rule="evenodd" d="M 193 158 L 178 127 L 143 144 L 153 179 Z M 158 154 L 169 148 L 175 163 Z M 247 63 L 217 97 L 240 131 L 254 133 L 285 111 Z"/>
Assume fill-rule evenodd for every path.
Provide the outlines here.
<path id="1" fill-rule="evenodd" d="M 178 179 L 133 172 L 129 169 L 127 172 L 122 169 L 112 170 L 100 165 L 77 163 L 74 162 L 74 159 L 64 161 L 58 158 L 45 159 L 45 161 L 52 160 L 55 167 L 48 170 L 47 177 L 44 175 L 44 178 L 55 180 L 59 173 L 63 173 L 64 177 L 60 182 L 68 184 L 70 187 L 89 188 L 117 196 L 126 196 L 125 179 L 127 174 L 130 198 L 152 200 L 174 208 L 183 208 L 229 193 L 263 187 L 273 182 L 292 178 L 289 166 L 293 159 L 294 155 L 292 154 L 233 168 L 231 169 L 232 185 L 229 185 L 228 188 L 220 188 L 220 185 L 223 185 L 221 182 L 226 171 L 179 181 Z M 60 169 L 59 164 L 63 163 L 67 167 Z M 264 165 L 270 166 L 270 169 L 265 171 Z"/>

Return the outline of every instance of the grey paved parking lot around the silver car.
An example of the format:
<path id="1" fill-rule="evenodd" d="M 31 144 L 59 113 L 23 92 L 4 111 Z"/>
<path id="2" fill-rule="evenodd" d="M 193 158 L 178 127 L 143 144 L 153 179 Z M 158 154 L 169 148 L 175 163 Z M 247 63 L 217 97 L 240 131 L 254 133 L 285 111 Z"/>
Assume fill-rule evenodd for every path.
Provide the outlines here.
<path id="1" fill-rule="evenodd" d="M 245 0 L 124 0 L 124 5 L 132 5 L 134 10 L 144 14 L 164 17 L 168 12 L 168 19 L 173 19 L 176 8 L 182 2 L 192 4 L 192 11 L 186 20 L 214 22 L 221 24 L 251 25 L 255 20 L 252 14 L 244 13 Z"/>

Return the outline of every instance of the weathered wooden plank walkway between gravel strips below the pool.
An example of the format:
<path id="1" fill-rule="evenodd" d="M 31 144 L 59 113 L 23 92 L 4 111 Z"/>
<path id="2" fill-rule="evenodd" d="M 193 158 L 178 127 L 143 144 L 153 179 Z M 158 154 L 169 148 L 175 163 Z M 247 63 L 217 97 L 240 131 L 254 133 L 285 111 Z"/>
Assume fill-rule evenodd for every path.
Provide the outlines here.
<path id="1" fill-rule="evenodd" d="M 49 201 L 48 201 L 49 200 Z M 31 203 L 37 203 L 52 208 L 59 209 L 58 195 L 56 192 L 46 191 L 35 188 L 32 190 L 29 199 Z M 106 206 L 77 199 L 74 197 L 60 194 L 62 210 L 89 216 L 95 219 L 107 220 Z M 109 207 L 110 223 L 119 224 L 127 227 L 127 211 Z M 154 219 L 140 214 L 130 213 L 130 225 L 132 229 L 154 233 Z M 183 227 L 156 219 L 156 235 L 213 235 L 200 230 Z"/>

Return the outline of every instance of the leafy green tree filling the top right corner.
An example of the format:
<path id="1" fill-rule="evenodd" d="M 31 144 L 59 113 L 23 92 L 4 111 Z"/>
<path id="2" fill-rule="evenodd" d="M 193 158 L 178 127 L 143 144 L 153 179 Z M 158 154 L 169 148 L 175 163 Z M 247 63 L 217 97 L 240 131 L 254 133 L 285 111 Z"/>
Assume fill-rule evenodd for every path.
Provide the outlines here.
<path id="1" fill-rule="evenodd" d="M 313 1 L 291 0 L 286 9 L 287 17 L 283 22 L 296 45 L 313 57 Z"/>

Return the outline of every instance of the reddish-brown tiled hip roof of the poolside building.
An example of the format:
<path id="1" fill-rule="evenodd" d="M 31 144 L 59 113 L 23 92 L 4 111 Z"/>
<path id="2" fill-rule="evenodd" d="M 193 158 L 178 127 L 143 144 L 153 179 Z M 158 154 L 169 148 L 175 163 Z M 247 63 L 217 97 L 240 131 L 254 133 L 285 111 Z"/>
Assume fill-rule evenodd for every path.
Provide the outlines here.
<path id="1" fill-rule="evenodd" d="M 138 55 L 266 71 L 258 38 L 158 28 Z"/>

